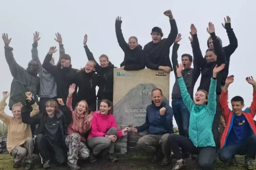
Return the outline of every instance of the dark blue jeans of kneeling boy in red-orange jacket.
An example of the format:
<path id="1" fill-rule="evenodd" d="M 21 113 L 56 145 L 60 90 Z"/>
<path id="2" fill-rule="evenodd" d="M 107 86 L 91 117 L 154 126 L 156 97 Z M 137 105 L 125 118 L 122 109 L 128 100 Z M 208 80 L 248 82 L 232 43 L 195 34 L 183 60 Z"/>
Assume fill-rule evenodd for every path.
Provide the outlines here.
<path id="1" fill-rule="evenodd" d="M 248 140 L 241 144 L 227 145 L 218 151 L 222 162 L 229 162 L 235 155 L 245 155 L 245 158 L 255 159 L 256 154 L 256 135 L 251 135 Z"/>

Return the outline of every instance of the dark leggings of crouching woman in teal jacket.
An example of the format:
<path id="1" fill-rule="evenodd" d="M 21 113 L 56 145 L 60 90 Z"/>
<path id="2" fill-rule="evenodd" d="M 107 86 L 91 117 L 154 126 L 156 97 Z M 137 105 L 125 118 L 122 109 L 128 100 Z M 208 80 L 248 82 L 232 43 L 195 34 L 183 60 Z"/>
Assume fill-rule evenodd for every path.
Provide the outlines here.
<path id="1" fill-rule="evenodd" d="M 178 134 L 170 134 L 168 137 L 168 146 L 172 150 L 177 160 L 182 159 L 182 151 L 187 151 L 192 154 L 199 154 L 198 164 L 202 170 L 209 170 L 214 164 L 216 158 L 215 147 L 195 147 L 192 141 Z"/>

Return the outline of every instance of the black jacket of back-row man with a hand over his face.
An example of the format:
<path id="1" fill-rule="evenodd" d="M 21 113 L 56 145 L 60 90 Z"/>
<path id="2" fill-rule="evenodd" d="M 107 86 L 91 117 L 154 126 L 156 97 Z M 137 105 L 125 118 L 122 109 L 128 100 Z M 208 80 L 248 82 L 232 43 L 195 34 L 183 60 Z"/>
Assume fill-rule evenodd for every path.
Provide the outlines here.
<path id="1" fill-rule="evenodd" d="M 52 59 L 52 55 L 47 54 L 44 60 L 44 63 L 42 64 L 42 67 L 46 69 L 49 73 L 51 73 L 57 83 L 57 98 L 61 98 L 64 103 L 67 101 L 68 97 L 68 89 L 69 86 L 74 83 L 67 79 L 68 74 L 72 74 L 77 72 L 77 69 L 72 68 L 72 65 L 70 64 L 69 67 L 63 67 L 61 68 L 61 63 L 59 62 L 56 66 L 53 66 L 50 64 L 50 61 Z M 77 88 L 76 88 L 77 89 Z M 76 90 L 73 93 L 73 101 L 74 105 L 76 100 Z M 73 106 L 74 106 L 73 105 Z"/>

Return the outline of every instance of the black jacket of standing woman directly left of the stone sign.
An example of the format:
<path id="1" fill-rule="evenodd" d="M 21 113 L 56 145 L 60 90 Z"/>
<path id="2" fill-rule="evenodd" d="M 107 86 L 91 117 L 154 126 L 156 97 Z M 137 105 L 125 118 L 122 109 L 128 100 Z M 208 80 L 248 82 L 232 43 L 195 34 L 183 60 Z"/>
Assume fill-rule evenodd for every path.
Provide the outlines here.
<path id="1" fill-rule="evenodd" d="M 97 97 L 98 99 L 108 99 L 113 101 L 113 81 L 114 81 L 114 68 L 116 68 L 111 62 L 108 63 L 107 67 L 101 67 L 93 57 L 92 52 L 88 46 L 84 46 L 88 60 L 95 61 L 95 71 L 99 77 L 99 90 Z"/>

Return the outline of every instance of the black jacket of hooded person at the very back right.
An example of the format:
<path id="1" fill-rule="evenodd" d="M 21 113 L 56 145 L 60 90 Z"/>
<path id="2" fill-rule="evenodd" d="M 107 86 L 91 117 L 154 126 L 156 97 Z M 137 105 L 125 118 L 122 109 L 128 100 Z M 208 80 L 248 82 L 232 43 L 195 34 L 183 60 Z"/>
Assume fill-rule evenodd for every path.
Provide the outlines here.
<path id="1" fill-rule="evenodd" d="M 225 68 L 224 68 L 223 78 L 222 78 L 222 81 L 221 81 L 221 85 L 222 86 L 225 85 L 225 81 L 226 81 L 226 78 L 228 76 L 230 57 L 235 52 L 235 50 L 237 49 L 237 46 L 238 46 L 236 35 L 235 35 L 234 31 L 233 31 L 233 28 L 231 28 L 231 23 L 225 23 L 225 29 L 226 29 L 226 32 L 227 32 L 227 36 L 228 36 L 228 40 L 229 40 L 229 45 L 225 46 L 225 47 L 222 47 L 222 41 L 218 37 L 218 40 L 221 43 L 222 50 L 225 52 L 225 56 L 226 56 L 226 65 L 225 65 Z M 208 40 L 209 40 L 209 38 L 208 38 Z M 208 40 L 207 40 L 207 46 L 209 48 Z"/>

